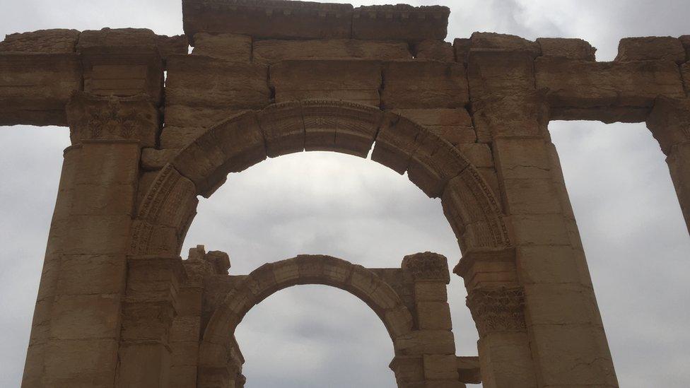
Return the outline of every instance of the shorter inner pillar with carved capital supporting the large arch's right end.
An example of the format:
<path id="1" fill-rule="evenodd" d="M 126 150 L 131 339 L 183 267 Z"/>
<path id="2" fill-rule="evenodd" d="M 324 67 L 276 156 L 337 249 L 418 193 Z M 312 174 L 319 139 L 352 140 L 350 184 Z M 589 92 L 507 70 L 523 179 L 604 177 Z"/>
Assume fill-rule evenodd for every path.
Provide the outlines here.
<path id="1" fill-rule="evenodd" d="M 515 249 L 466 252 L 453 272 L 464 278 L 467 307 L 479 332 L 484 387 L 537 387 Z"/>

